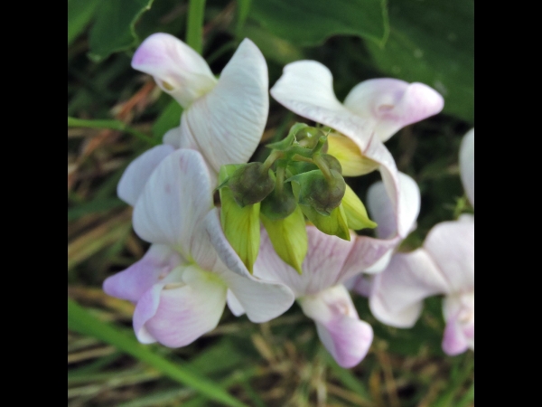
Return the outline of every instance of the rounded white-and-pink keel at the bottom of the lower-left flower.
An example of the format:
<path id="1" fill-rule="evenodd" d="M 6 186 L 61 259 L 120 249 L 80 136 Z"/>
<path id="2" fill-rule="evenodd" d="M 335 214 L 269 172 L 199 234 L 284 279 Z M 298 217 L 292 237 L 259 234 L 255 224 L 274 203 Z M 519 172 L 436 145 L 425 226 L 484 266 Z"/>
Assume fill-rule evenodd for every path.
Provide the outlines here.
<path id="1" fill-rule="evenodd" d="M 149 338 L 169 347 L 191 344 L 217 327 L 226 304 L 226 286 L 210 272 L 189 267 L 182 282 L 157 284 L 137 302 L 134 329 L 137 338 Z"/>

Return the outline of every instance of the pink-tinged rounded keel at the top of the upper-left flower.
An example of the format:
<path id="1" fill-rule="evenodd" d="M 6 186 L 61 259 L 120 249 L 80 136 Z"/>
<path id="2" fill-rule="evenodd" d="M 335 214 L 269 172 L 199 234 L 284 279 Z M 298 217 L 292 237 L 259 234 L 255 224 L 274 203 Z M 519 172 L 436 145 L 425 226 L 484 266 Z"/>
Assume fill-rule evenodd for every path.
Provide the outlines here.
<path id="1" fill-rule="evenodd" d="M 168 33 L 147 37 L 135 50 L 132 68 L 152 75 L 184 109 L 217 82 L 201 55 Z"/>

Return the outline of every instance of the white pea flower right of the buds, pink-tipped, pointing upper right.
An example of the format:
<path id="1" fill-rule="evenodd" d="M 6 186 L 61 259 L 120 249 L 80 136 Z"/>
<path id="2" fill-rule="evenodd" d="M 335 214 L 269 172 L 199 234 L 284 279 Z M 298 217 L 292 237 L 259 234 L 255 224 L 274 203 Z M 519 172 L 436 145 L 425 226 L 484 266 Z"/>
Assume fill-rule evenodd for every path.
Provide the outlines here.
<path id="1" fill-rule="evenodd" d="M 320 62 L 292 62 L 271 95 L 287 109 L 340 133 L 328 138 L 328 152 L 341 161 L 343 175 L 380 171 L 397 216 L 397 232 L 406 236 L 409 222 L 403 213 L 408 213 L 409 203 L 400 194 L 397 166 L 383 141 L 399 128 L 438 113 L 444 100 L 421 83 L 378 79 L 358 84 L 341 104 L 332 80 L 332 73 Z"/>

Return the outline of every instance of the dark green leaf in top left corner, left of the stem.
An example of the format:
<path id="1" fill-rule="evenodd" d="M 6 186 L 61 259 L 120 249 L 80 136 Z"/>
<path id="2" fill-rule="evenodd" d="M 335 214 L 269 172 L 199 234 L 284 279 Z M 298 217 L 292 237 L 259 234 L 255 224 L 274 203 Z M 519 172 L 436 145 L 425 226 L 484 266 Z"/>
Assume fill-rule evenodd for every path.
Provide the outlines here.
<path id="1" fill-rule="evenodd" d="M 107 0 L 98 8 L 96 23 L 89 33 L 89 58 L 94 62 L 114 52 L 128 50 L 137 44 L 135 23 L 154 0 Z"/>

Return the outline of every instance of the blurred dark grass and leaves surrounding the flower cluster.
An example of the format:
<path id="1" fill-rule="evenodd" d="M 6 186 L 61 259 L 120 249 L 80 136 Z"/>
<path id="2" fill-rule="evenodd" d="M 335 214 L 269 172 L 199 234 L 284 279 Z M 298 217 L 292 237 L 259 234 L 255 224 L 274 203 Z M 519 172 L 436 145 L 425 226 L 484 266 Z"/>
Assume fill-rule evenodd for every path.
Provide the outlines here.
<path id="1" fill-rule="evenodd" d="M 378 323 L 367 298 L 353 295 L 375 339 L 358 366 L 342 369 L 296 305 L 260 325 L 226 308 L 214 331 L 169 349 L 139 345 L 134 306 L 101 289 L 148 246 L 132 229 L 132 209 L 117 198 L 117 182 L 135 156 L 179 125 L 182 113 L 152 78 L 130 67 L 145 37 L 164 32 L 186 41 L 193 22 L 202 21 L 201 53 L 214 73 L 248 37 L 266 57 L 270 86 L 286 63 L 311 59 L 332 71 L 340 100 L 371 78 L 438 90 L 444 111 L 386 143 L 422 193 L 418 227 L 401 247 L 408 251 L 435 223 L 472 212 L 458 150 L 474 125 L 473 8 L 471 0 L 69 0 L 69 405 L 473 405 L 473 352 L 452 357 L 441 349 L 442 298 L 425 301 L 415 327 L 397 329 Z M 270 99 L 263 139 L 284 137 L 295 121 L 306 122 Z M 263 154 L 260 148 L 255 158 Z M 347 182 L 364 199 L 378 178 Z"/>

